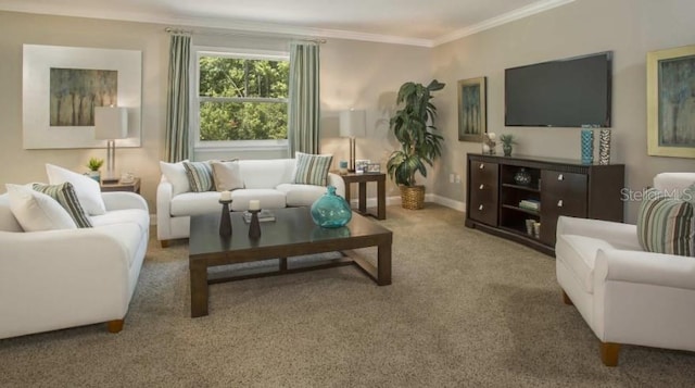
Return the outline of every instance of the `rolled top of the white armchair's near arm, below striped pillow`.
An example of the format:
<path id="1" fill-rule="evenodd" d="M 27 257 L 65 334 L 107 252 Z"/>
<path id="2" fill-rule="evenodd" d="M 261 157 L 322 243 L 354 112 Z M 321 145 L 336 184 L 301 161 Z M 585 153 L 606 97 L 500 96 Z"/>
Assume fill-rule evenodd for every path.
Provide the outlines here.
<path id="1" fill-rule="evenodd" d="M 695 290 L 695 258 L 599 249 L 594 264 L 594 286 L 608 281 Z"/>

